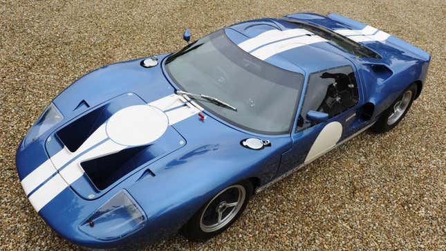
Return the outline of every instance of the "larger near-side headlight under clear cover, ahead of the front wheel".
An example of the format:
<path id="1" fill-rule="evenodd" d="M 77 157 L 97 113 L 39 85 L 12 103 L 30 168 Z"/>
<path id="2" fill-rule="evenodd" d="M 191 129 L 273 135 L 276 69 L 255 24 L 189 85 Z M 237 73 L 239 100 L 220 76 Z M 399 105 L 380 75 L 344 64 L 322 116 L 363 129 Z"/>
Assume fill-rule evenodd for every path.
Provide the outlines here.
<path id="1" fill-rule="evenodd" d="M 94 212 L 79 228 L 100 240 L 118 239 L 139 230 L 146 217 L 124 189 Z"/>

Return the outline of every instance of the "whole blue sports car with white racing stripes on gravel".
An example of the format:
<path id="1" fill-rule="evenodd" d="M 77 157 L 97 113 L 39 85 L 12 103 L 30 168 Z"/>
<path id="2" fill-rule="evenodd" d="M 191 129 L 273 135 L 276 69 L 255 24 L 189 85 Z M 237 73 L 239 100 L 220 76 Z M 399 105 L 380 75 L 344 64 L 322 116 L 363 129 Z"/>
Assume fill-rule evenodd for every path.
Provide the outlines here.
<path id="1" fill-rule="evenodd" d="M 420 95 L 430 55 L 336 14 L 245 21 L 111 64 L 57 95 L 17 150 L 26 196 L 93 248 L 209 239 L 248 199 Z"/>

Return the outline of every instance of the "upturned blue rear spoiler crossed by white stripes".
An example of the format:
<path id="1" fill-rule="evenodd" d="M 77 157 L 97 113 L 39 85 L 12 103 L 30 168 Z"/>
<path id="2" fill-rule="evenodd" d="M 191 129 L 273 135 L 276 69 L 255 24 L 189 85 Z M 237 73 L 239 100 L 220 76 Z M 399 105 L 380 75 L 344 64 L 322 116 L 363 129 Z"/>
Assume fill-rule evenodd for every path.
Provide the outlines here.
<path id="1" fill-rule="evenodd" d="M 431 55 L 425 52 L 425 50 L 413 46 L 406 41 L 399 39 L 398 37 L 389 35 L 382 30 L 377 30 L 376 28 L 367 26 L 366 24 L 362 24 L 359 21 L 355 21 L 353 19 L 349 19 L 348 17 L 344 17 L 335 13 L 328 14 L 327 17 L 345 24 L 347 27 L 351 28 L 351 30 L 334 31 L 340 33 L 341 35 L 346 35 L 355 41 L 381 41 L 382 43 L 389 44 L 391 46 L 399 48 L 400 50 L 412 53 L 425 61 L 429 61 L 431 58 Z"/>

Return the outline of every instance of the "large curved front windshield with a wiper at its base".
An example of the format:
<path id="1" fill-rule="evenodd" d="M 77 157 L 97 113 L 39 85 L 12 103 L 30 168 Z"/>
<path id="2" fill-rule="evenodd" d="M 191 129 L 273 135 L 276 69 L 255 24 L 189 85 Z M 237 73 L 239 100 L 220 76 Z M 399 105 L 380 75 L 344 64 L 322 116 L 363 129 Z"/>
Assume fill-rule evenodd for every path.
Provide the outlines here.
<path id="1" fill-rule="evenodd" d="M 256 133 L 290 132 L 304 76 L 245 53 L 224 30 L 171 55 L 166 69 L 182 91 L 210 95 L 236 107 L 234 111 L 194 97 L 219 118 Z"/>

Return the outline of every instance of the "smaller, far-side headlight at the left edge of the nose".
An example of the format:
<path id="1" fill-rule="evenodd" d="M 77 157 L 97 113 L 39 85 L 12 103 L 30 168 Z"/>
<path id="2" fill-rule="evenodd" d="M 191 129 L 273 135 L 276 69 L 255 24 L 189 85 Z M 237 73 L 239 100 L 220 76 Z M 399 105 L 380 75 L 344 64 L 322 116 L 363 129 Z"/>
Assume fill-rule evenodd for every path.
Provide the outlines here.
<path id="1" fill-rule="evenodd" d="M 64 116 L 57 110 L 57 107 L 51 103 L 40 115 L 40 118 L 32 125 L 28 134 L 26 134 L 24 139 L 24 145 L 36 140 L 44 132 L 48 131 L 54 127 L 57 123 L 61 122 Z"/>

